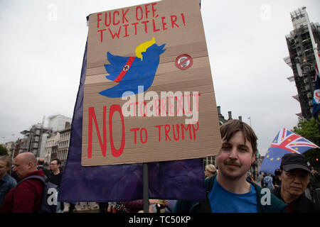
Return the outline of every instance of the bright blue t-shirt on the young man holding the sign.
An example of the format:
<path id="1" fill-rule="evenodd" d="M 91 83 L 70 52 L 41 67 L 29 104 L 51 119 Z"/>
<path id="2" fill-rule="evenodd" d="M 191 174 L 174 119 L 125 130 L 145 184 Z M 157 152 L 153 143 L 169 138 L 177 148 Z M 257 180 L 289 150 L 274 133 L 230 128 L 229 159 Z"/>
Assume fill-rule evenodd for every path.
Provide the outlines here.
<path id="1" fill-rule="evenodd" d="M 257 192 L 252 184 L 250 192 L 235 194 L 223 189 L 215 177 L 208 197 L 213 213 L 257 213 Z"/>

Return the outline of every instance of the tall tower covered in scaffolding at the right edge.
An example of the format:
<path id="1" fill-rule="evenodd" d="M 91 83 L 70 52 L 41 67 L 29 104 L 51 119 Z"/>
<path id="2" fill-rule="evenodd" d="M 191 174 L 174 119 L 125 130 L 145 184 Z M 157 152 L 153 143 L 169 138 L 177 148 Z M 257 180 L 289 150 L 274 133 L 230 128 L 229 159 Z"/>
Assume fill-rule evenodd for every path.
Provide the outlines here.
<path id="1" fill-rule="evenodd" d="M 293 77 L 298 91 L 298 96 L 294 96 L 294 98 L 299 100 L 302 109 L 302 114 L 299 116 L 309 120 L 312 117 L 313 109 L 312 99 L 316 59 L 312 48 L 305 9 L 305 7 L 302 7 L 302 9 L 290 13 L 294 31 L 286 35 L 289 58 L 285 57 L 284 61 L 288 65 L 290 64 L 289 66 L 292 67 L 294 73 Z M 319 44 L 319 23 L 311 23 L 310 25 L 314 40 Z M 287 79 L 292 81 L 291 77 Z"/>

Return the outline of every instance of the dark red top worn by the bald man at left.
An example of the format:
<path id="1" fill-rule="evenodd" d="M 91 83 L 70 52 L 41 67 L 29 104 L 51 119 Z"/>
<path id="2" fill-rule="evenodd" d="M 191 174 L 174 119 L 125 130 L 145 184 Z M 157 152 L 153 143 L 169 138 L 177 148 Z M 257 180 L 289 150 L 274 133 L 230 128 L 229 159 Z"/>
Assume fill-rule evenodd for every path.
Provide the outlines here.
<path id="1" fill-rule="evenodd" d="M 31 175 L 44 177 L 42 170 L 36 170 L 21 177 L 21 179 Z M 32 213 L 40 209 L 43 193 L 43 183 L 40 180 L 26 179 L 26 181 L 21 182 L 13 197 L 14 189 L 15 187 L 4 198 L 0 213 Z"/>

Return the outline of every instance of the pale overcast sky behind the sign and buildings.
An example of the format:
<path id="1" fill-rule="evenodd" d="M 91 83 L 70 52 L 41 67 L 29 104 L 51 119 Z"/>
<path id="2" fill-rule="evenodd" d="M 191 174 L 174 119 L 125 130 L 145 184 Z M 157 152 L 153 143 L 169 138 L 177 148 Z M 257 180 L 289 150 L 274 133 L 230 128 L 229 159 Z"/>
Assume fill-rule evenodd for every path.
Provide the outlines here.
<path id="1" fill-rule="evenodd" d="M 174 1 L 174 0 L 173 0 Z M 43 116 L 73 116 L 87 39 L 86 16 L 144 0 L 0 0 L 0 143 Z M 242 116 L 265 155 L 279 129 L 292 129 L 301 112 L 285 35 L 290 12 L 306 6 L 320 21 L 320 1 L 201 1 L 217 105 Z M 14 135 L 13 135 L 14 134 Z"/>

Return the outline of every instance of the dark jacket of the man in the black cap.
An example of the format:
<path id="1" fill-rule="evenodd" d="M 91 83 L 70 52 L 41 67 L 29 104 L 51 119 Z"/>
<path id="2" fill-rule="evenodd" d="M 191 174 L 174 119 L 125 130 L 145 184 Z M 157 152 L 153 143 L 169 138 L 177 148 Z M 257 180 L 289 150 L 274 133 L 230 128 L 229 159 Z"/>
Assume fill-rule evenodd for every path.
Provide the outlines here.
<path id="1" fill-rule="evenodd" d="M 281 192 L 281 187 L 274 190 L 274 195 L 283 201 L 280 192 Z M 295 201 L 294 213 L 320 213 L 320 205 L 314 204 L 314 202 L 306 198 L 306 196 L 303 193 Z"/>

